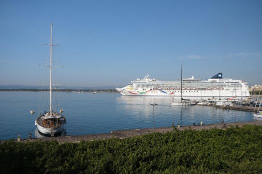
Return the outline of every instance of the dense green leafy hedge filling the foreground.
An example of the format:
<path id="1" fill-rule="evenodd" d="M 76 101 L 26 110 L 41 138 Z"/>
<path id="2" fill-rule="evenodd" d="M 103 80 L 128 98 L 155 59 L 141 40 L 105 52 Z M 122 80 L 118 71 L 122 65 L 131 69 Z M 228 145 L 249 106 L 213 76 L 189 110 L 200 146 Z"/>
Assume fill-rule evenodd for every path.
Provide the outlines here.
<path id="1" fill-rule="evenodd" d="M 262 127 L 0 145 L 0 173 L 262 174 Z"/>

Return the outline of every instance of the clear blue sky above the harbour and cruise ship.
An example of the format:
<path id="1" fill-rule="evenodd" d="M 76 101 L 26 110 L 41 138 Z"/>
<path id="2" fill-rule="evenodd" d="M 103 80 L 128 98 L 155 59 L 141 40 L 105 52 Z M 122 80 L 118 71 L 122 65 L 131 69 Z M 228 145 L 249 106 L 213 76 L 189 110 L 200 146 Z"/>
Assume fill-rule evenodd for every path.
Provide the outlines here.
<path id="1" fill-rule="evenodd" d="M 262 0 L 0 0 L 0 85 L 39 85 L 50 23 L 63 85 L 224 78 L 262 84 Z"/>

